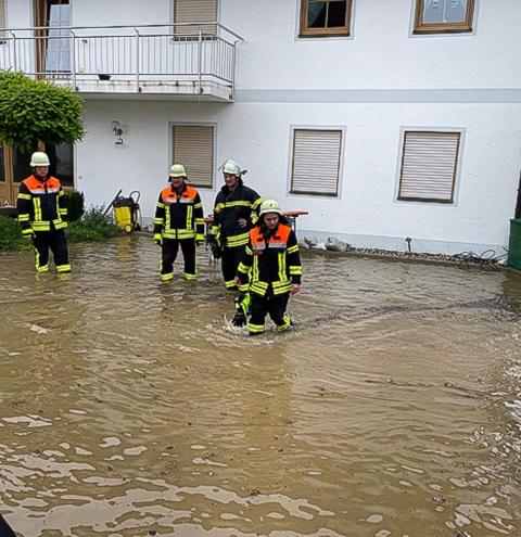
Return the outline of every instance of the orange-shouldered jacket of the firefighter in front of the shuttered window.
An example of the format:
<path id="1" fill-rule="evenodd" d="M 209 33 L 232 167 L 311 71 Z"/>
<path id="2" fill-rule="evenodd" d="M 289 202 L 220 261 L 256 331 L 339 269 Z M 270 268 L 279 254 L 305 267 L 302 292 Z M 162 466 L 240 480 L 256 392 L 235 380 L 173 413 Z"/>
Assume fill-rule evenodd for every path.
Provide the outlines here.
<path id="1" fill-rule="evenodd" d="M 155 209 L 154 236 L 204 241 L 203 204 L 193 187 L 185 184 L 180 195 L 171 183 L 161 191 Z"/>

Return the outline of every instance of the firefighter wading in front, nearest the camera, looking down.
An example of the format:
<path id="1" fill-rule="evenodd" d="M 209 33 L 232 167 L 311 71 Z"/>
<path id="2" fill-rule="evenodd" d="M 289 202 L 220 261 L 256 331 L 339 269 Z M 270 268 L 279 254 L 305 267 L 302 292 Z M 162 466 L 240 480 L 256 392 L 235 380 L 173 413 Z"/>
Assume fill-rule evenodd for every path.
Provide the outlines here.
<path id="1" fill-rule="evenodd" d="M 236 285 L 241 285 L 249 273 L 250 334 L 265 331 L 266 314 L 269 314 L 278 332 L 289 330 L 288 301 L 290 295 L 301 290 L 302 265 L 295 233 L 275 200 L 265 200 L 260 205 L 258 222 L 250 231 Z"/>

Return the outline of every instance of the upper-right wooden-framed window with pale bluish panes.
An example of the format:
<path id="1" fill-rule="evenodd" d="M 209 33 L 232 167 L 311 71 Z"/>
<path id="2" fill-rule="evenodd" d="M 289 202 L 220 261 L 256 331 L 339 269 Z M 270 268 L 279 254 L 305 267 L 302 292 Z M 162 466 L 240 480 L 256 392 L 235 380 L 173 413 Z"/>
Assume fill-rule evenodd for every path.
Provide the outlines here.
<path id="1" fill-rule="evenodd" d="M 474 0 L 416 0 L 415 34 L 472 31 Z"/>

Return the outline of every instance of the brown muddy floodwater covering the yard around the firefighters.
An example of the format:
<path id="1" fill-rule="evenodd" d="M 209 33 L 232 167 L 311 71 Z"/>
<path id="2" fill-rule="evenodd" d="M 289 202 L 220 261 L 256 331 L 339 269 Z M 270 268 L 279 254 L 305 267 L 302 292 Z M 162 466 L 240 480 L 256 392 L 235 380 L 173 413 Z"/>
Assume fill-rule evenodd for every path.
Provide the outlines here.
<path id="1" fill-rule="evenodd" d="M 0 512 L 24 537 L 521 535 L 521 278 L 304 255 L 247 338 L 148 238 L 0 256 Z M 179 272 L 179 270 L 178 270 Z"/>

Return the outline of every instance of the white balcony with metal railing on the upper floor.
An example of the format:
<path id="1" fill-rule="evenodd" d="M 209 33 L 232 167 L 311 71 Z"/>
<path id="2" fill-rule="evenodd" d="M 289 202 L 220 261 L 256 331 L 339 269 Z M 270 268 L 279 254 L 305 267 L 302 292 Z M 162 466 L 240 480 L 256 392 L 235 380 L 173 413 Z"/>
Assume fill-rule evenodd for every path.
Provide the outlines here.
<path id="1" fill-rule="evenodd" d="M 0 30 L 0 69 L 86 98 L 233 100 L 237 46 L 218 23 Z"/>

